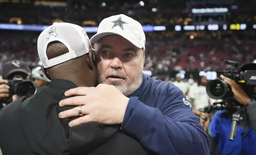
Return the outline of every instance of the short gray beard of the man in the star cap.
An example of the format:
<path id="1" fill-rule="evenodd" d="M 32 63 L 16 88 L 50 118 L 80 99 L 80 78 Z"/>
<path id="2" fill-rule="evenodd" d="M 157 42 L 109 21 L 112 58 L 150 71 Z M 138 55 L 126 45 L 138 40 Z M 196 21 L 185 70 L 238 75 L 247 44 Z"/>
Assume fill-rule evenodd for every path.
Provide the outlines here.
<path id="1" fill-rule="evenodd" d="M 129 96 L 134 93 L 142 83 L 142 71 L 135 74 L 136 76 L 132 77 L 132 79 L 125 79 L 125 81 L 106 81 L 107 75 L 100 76 L 98 72 L 98 82 L 113 85 L 118 89 L 123 95 Z"/>

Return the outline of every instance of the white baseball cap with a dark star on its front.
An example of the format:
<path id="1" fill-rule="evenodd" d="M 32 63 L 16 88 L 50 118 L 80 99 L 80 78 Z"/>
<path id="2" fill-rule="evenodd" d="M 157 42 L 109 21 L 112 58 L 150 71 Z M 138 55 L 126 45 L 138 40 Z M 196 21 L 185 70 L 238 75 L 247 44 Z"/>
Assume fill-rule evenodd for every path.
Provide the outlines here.
<path id="1" fill-rule="evenodd" d="M 142 25 L 126 15 L 113 15 L 103 19 L 99 24 L 97 34 L 91 38 L 91 43 L 97 43 L 108 35 L 119 35 L 138 48 L 145 50 L 145 33 Z"/>

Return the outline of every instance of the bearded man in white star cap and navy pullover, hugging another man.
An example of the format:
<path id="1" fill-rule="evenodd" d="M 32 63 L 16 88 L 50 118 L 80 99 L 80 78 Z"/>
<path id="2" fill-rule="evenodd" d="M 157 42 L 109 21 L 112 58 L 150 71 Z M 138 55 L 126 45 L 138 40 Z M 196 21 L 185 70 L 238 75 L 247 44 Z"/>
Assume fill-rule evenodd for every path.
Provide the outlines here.
<path id="1" fill-rule="evenodd" d="M 98 81 L 103 84 L 66 91 L 65 95 L 75 97 L 60 105 L 82 105 L 84 115 L 70 126 L 90 121 L 120 124 L 121 130 L 159 155 L 209 154 L 208 135 L 183 92 L 142 73 L 145 34 L 138 21 L 122 14 L 103 19 L 91 43 L 95 43 Z M 59 115 L 72 117 L 79 112 L 74 108 Z"/>

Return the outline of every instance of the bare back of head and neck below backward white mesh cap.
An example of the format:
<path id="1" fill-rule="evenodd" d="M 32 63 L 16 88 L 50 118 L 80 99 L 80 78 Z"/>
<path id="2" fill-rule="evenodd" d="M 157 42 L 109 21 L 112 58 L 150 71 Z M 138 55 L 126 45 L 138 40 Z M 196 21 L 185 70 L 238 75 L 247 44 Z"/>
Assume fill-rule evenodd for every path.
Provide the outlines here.
<path id="1" fill-rule="evenodd" d="M 68 52 L 68 48 L 58 41 L 50 42 L 46 50 L 49 60 Z M 47 74 L 51 79 L 68 79 L 78 86 L 93 87 L 97 78 L 91 54 L 89 51 L 81 57 L 46 68 Z"/>

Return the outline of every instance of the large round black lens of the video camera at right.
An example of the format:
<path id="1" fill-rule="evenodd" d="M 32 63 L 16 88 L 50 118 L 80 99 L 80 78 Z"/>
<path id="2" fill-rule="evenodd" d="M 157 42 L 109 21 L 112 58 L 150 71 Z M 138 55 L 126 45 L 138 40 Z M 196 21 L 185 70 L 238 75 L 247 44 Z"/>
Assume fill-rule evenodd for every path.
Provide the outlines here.
<path id="1" fill-rule="evenodd" d="M 206 85 L 206 93 L 215 100 L 223 99 L 229 93 L 229 86 L 221 79 L 209 81 Z"/>

